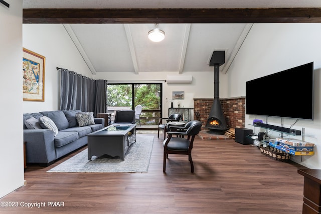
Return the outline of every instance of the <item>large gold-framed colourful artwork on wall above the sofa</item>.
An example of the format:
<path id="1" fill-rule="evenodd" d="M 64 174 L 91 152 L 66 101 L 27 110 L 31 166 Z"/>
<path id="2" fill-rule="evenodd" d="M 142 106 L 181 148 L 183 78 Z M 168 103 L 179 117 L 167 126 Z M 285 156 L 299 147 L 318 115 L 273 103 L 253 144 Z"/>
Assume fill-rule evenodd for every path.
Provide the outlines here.
<path id="1" fill-rule="evenodd" d="M 23 48 L 23 98 L 24 101 L 45 101 L 46 58 Z"/>

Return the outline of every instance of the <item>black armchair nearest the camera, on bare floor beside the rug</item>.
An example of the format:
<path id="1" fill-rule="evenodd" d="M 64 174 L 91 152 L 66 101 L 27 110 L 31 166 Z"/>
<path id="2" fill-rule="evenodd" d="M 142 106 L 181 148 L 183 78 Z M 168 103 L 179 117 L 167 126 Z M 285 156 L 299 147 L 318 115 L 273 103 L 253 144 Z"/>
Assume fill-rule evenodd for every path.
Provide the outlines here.
<path id="1" fill-rule="evenodd" d="M 166 172 L 166 159 L 169 154 L 185 154 L 189 156 L 191 164 L 191 173 L 194 173 L 194 164 L 192 160 L 192 149 L 195 136 L 201 131 L 202 122 L 193 120 L 188 122 L 184 128 L 177 131 L 169 131 L 168 138 L 163 142 L 164 146 L 164 163 L 163 172 Z M 173 137 L 173 135 L 187 136 L 184 137 Z"/>

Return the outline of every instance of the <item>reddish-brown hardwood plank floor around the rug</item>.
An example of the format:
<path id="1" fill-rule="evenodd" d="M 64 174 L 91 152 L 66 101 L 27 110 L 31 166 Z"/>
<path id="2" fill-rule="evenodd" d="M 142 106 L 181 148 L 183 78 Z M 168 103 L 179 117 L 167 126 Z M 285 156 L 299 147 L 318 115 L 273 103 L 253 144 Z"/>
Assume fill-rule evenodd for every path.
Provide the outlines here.
<path id="1" fill-rule="evenodd" d="M 1 213 L 301 213 L 303 176 L 293 162 L 262 155 L 256 146 L 234 140 L 196 137 L 190 172 L 188 156 L 170 155 L 163 173 L 162 138 L 154 136 L 148 173 L 47 173 L 28 165 L 27 184 L 0 199 L 18 207 Z M 48 206 L 48 202 L 63 202 Z M 41 207 L 21 204 L 44 202 Z M 36 204 L 37 205 L 37 204 Z"/>

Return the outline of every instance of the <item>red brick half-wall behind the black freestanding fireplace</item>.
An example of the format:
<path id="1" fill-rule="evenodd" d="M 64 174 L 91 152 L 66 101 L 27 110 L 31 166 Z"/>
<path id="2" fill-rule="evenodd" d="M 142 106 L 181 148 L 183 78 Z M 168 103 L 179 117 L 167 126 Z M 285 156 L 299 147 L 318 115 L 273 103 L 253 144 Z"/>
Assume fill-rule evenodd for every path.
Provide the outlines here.
<path id="1" fill-rule="evenodd" d="M 225 98 L 220 101 L 228 127 L 245 127 L 245 98 Z M 194 118 L 198 119 L 196 113 L 200 114 L 203 129 L 207 129 L 204 126 L 206 125 L 212 104 L 213 99 L 194 99 Z"/>

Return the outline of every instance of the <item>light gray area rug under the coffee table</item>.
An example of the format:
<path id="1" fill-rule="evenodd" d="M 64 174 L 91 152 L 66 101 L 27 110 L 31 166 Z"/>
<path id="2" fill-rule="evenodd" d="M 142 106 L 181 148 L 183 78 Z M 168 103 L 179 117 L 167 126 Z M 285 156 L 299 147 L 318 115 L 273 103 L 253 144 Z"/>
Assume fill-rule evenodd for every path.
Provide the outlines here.
<path id="1" fill-rule="evenodd" d="M 136 142 L 125 154 L 125 160 L 102 155 L 93 156 L 90 161 L 85 149 L 47 172 L 148 172 L 153 140 L 152 136 L 137 135 Z"/>

